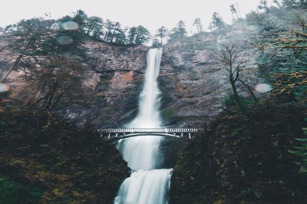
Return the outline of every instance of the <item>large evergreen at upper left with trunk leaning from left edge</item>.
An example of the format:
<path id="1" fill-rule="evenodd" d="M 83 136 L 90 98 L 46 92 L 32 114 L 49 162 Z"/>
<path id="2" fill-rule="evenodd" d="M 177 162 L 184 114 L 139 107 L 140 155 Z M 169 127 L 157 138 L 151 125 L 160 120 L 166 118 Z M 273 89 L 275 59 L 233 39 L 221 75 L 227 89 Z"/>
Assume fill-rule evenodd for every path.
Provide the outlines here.
<path id="1" fill-rule="evenodd" d="M 15 50 L 16 56 L 10 59 L 13 62 L 0 83 L 3 83 L 13 70 L 20 69 L 27 74 L 27 69 L 34 68 L 34 63 L 39 64 L 41 56 L 55 50 L 52 46 L 56 36 L 52 29 L 55 23 L 54 20 L 32 18 L 11 25 L 9 31 L 13 38 L 9 39 L 9 44 Z"/>

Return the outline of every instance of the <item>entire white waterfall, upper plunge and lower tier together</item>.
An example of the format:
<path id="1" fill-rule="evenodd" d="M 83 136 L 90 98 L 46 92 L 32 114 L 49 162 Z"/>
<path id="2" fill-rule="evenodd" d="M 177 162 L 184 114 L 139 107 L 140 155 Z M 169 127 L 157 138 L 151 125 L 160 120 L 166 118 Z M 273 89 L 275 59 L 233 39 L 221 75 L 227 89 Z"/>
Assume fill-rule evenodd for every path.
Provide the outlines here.
<path id="1" fill-rule="evenodd" d="M 140 94 L 139 114 L 129 128 L 160 128 L 157 77 L 162 49 L 147 55 L 145 83 Z M 114 204 L 166 204 L 172 169 L 158 169 L 163 162 L 161 137 L 141 136 L 120 141 L 118 148 L 134 172 L 121 185 Z"/>

